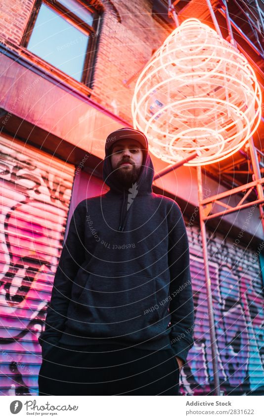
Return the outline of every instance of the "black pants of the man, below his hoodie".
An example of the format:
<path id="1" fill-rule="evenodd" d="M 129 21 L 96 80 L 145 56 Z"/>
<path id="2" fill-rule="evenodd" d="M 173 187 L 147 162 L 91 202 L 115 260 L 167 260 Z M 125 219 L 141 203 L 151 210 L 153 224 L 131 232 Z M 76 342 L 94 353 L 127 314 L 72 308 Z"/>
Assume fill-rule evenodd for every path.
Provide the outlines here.
<path id="1" fill-rule="evenodd" d="M 178 395 L 178 382 L 172 350 L 61 344 L 42 362 L 39 395 Z"/>

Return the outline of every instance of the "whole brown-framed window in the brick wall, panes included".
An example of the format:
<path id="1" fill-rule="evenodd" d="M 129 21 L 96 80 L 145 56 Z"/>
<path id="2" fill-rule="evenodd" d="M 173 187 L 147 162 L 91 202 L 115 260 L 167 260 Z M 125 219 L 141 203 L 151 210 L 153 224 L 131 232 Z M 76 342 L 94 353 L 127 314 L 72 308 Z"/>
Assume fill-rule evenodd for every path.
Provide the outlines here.
<path id="1" fill-rule="evenodd" d="M 87 86 L 91 83 L 97 7 L 78 0 L 37 0 L 22 46 Z M 97 2 L 98 3 L 98 2 Z"/>

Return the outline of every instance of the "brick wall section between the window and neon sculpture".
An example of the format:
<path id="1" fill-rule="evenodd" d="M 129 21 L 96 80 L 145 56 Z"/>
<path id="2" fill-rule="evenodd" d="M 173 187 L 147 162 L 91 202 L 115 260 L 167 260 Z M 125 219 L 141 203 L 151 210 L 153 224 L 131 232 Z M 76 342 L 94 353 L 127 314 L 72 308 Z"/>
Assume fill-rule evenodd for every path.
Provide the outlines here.
<path id="1" fill-rule="evenodd" d="M 106 8 L 98 46 L 93 98 L 115 114 L 131 121 L 133 88 L 152 51 L 160 47 L 169 35 L 151 16 L 152 1 L 116 1 L 121 23 Z"/>

